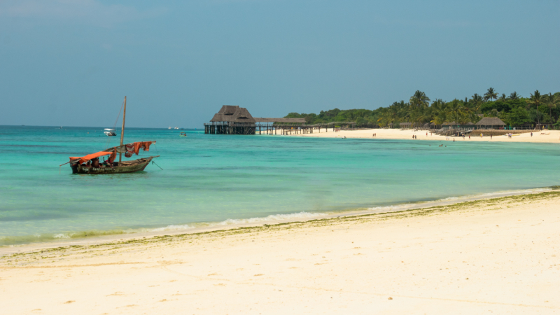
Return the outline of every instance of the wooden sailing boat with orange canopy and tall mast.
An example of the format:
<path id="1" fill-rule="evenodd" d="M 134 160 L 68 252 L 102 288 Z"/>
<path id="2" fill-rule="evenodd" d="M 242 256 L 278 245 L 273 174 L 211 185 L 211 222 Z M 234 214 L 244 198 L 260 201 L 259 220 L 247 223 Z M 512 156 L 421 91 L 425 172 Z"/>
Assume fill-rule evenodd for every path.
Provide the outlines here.
<path id="1" fill-rule="evenodd" d="M 150 151 L 150 145 L 155 141 L 134 142 L 133 144 L 123 144 L 125 137 L 125 117 L 127 113 L 127 97 L 125 97 L 124 111 L 123 111 L 123 129 L 120 132 L 120 146 L 114 146 L 104 151 L 85 155 L 83 157 L 71 157 L 70 164 L 72 174 L 124 174 L 141 172 L 148 166 L 154 158 L 160 155 L 151 156 L 149 158 L 139 158 L 137 160 L 123 161 L 123 153 L 126 156 L 138 154 L 140 149 Z M 119 153 L 118 162 L 115 162 L 116 155 Z M 110 155 L 109 160 L 103 164 L 99 164 L 99 157 Z M 63 165 L 64 165 L 63 164 Z M 60 165 L 62 166 L 62 165 Z"/>

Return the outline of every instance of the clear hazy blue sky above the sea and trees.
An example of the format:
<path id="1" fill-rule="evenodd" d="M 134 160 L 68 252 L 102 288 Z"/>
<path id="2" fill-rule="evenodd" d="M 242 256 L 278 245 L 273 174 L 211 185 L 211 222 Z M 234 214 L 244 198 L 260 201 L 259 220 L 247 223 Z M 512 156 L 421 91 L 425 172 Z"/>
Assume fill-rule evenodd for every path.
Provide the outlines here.
<path id="1" fill-rule="evenodd" d="M 560 1 L 0 0 L 0 125 L 202 127 L 560 91 Z M 122 116 L 121 116 L 122 117 Z"/>

